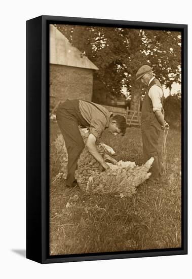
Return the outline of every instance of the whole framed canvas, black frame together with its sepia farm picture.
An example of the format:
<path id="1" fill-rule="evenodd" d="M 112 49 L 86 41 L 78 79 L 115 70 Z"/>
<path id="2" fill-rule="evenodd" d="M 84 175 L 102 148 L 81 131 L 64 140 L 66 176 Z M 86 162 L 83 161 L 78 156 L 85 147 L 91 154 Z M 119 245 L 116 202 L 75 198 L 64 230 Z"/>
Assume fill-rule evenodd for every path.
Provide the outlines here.
<path id="1" fill-rule="evenodd" d="M 187 254 L 187 25 L 40 16 L 26 31 L 26 257 Z"/>

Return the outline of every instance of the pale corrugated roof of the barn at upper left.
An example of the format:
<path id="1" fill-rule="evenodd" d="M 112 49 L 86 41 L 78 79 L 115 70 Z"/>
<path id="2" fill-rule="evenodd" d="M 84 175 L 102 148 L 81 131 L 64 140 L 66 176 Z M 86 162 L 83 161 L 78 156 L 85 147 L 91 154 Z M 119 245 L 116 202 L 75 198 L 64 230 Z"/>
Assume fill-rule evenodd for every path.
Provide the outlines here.
<path id="1" fill-rule="evenodd" d="M 87 57 L 81 56 L 81 51 L 73 47 L 67 38 L 50 24 L 50 63 L 98 70 Z"/>

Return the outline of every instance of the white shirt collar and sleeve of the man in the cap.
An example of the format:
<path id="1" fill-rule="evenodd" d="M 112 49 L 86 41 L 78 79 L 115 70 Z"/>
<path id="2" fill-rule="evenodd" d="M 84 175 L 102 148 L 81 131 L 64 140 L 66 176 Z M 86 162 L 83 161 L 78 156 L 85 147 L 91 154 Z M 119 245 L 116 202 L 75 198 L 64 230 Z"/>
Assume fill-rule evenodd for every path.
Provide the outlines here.
<path id="1" fill-rule="evenodd" d="M 149 80 L 148 86 L 153 81 L 155 77 L 152 77 Z M 153 85 L 148 91 L 148 96 L 152 101 L 153 112 L 162 111 L 162 102 L 161 98 L 163 97 L 163 90 L 158 85 Z"/>

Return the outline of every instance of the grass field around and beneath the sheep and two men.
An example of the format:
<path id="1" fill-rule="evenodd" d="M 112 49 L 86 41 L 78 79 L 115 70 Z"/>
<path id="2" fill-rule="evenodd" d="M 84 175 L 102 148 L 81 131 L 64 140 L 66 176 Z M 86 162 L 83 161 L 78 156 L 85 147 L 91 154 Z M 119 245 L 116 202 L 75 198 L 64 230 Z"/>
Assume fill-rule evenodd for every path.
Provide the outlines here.
<path id="1" fill-rule="evenodd" d="M 52 122 L 51 181 L 60 172 L 58 132 Z M 180 131 L 170 129 L 161 184 L 143 183 L 130 198 L 69 190 L 59 177 L 50 183 L 50 255 L 181 247 L 180 140 Z M 117 160 L 142 164 L 140 129 L 128 128 L 124 137 L 104 132 L 102 141 L 117 152 Z"/>

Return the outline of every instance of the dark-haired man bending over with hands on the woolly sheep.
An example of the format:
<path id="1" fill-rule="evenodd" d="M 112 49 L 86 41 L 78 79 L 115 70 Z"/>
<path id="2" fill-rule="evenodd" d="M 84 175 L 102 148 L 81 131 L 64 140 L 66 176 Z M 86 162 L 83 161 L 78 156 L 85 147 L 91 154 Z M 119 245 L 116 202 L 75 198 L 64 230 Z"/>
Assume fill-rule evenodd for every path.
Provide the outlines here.
<path id="1" fill-rule="evenodd" d="M 68 153 L 68 173 L 66 179 L 68 187 L 77 185 L 74 173 L 78 167 L 78 159 L 85 147 L 78 125 L 90 127 L 86 143 L 88 151 L 106 171 L 109 170 L 109 166 L 98 153 L 96 141 L 104 129 L 113 134 L 122 133 L 124 135 L 126 131 L 125 117 L 121 115 L 113 116 L 104 107 L 93 102 L 67 99 L 59 105 L 56 119 L 64 137 Z"/>

